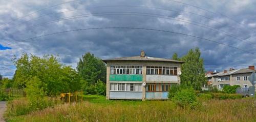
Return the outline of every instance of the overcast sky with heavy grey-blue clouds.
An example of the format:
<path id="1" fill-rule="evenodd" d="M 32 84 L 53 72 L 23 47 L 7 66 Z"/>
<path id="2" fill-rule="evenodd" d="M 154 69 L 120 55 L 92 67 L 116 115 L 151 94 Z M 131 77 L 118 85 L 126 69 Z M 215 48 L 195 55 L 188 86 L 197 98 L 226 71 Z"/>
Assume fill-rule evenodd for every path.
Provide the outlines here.
<path id="1" fill-rule="evenodd" d="M 256 1 L 69 1 L 0 0 L 0 74 L 11 78 L 15 72 L 11 59 L 24 52 L 58 54 L 61 63 L 75 68 L 86 52 L 105 59 L 139 55 L 145 50 L 147 56 L 170 58 L 175 52 L 182 56 L 199 47 L 206 70 L 256 65 L 256 54 L 252 54 L 256 50 Z M 127 28 L 29 39 L 98 27 L 159 29 L 229 46 L 180 34 Z"/>

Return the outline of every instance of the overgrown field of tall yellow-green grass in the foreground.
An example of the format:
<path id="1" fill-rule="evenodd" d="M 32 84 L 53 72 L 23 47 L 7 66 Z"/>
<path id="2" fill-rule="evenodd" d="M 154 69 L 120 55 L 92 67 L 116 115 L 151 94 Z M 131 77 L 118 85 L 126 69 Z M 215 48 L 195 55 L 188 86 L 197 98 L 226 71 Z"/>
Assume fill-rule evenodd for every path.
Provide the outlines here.
<path id="1" fill-rule="evenodd" d="M 172 101 L 108 101 L 103 96 L 85 99 L 5 116 L 8 121 L 256 121 L 255 99 L 201 100 L 202 105 L 195 109 L 181 108 Z"/>

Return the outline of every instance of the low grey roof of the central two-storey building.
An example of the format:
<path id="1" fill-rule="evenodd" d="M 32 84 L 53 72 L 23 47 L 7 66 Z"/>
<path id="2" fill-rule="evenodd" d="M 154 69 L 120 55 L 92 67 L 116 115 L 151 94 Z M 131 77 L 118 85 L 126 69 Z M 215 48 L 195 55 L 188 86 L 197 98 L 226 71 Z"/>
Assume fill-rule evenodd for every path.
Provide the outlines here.
<path id="1" fill-rule="evenodd" d="M 175 62 L 175 63 L 184 63 L 179 60 L 159 58 L 159 57 L 149 57 L 149 56 L 132 56 L 132 57 L 117 57 L 110 59 L 103 59 L 103 62 L 115 61 L 115 60 L 139 60 L 139 61 L 159 61 L 159 62 Z"/>

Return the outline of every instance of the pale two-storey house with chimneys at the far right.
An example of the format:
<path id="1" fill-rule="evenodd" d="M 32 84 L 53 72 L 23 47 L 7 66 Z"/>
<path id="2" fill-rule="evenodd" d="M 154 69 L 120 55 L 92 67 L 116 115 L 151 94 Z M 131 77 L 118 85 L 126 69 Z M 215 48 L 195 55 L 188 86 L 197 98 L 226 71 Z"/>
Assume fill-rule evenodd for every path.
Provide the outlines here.
<path id="1" fill-rule="evenodd" d="M 215 86 L 218 89 L 222 89 L 225 85 L 240 85 L 243 88 L 249 88 L 252 86 L 248 80 L 252 72 L 255 72 L 254 66 L 249 66 L 245 69 L 230 68 L 229 71 L 223 72 L 207 72 L 208 85 Z"/>

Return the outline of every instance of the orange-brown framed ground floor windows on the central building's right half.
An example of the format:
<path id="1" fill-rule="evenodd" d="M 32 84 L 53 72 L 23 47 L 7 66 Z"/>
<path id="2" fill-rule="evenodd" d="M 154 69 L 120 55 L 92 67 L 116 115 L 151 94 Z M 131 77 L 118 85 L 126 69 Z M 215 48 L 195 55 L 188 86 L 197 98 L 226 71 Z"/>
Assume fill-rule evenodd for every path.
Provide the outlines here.
<path id="1" fill-rule="evenodd" d="M 146 92 L 168 92 L 171 83 L 147 83 Z"/>

